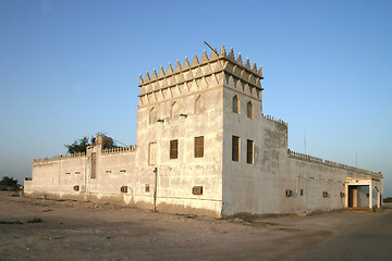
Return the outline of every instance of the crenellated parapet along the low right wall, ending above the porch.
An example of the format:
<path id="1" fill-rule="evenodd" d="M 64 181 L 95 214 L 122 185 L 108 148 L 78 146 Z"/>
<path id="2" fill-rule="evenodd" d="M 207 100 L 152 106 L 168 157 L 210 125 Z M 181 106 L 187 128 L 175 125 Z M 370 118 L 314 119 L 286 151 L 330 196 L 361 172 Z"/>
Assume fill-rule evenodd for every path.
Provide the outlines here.
<path id="1" fill-rule="evenodd" d="M 341 164 L 341 163 L 333 162 L 333 161 L 330 161 L 330 160 L 322 160 L 320 158 L 313 157 L 313 156 L 309 156 L 309 154 L 299 153 L 299 152 L 296 152 L 296 151 L 292 151 L 290 149 L 287 150 L 287 154 L 289 154 L 289 157 L 295 158 L 295 159 L 298 159 L 298 160 L 304 160 L 304 161 L 308 161 L 308 162 L 313 162 L 313 163 L 317 163 L 317 164 L 333 166 L 333 167 L 338 167 L 338 169 L 345 170 L 345 171 L 352 171 L 352 172 L 362 173 L 362 174 L 366 174 L 366 175 L 371 175 L 373 177 L 382 178 L 381 172 L 377 173 L 377 172 L 372 172 L 372 171 L 368 171 L 368 170 L 358 169 L 358 167 L 355 167 L 355 166 Z"/>

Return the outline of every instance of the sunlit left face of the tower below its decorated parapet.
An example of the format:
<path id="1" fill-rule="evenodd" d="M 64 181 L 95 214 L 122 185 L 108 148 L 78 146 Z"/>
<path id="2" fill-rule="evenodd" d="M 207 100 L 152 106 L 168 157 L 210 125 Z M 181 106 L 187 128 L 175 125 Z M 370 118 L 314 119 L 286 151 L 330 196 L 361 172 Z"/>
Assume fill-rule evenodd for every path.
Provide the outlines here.
<path id="1" fill-rule="evenodd" d="M 203 86 L 200 86 L 203 87 Z M 205 87 L 205 86 L 204 86 Z M 218 85 L 177 94 L 172 99 L 139 105 L 137 114 L 137 165 L 142 176 L 151 177 L 157 167 L 157 209 L 167 212 L 220 215 L 222 133 L 222 88 Z M 200 109 L 195 112 L 195 102 Z M 173 112 L 175 104 L 175 112 Z M 149 121 L 151 109 L 157 119 Z M 183 114 L 180 116 L 180 114 Z M 195 158 L 194 138 L 204 137 L 204 157 Z M 170 159 L 170 140 L 177 139 L 177 159 Z M 149 165 L 149 144 L 156 142 L 156 162 Z M 193 195 L 194 186 L 203 186 L 203 195 Z"/>

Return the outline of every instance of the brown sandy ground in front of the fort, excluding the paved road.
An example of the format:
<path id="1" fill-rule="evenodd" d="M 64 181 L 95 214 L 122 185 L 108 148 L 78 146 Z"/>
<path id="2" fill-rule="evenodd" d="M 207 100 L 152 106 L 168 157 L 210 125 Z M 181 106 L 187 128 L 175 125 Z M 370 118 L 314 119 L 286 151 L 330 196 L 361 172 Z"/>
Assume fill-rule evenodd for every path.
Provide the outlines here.
<path id="1" fill-rule="evenodd" d="M 0 260 L 282 260 L 389 211 L 215 220 L 0 192 Z"/>

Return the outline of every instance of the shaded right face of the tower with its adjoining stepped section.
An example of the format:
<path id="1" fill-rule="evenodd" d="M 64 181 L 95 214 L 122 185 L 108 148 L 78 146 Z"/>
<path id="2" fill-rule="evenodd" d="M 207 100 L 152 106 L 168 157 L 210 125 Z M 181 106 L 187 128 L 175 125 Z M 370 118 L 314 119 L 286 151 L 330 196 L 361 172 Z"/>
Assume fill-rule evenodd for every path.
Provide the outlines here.
<path id="1" fill-rule="evenodd" d="M 223 215 L 236 213 L 281 212 L 285 184 L 286 126 L 266 120 L 261 114 L 261 101 L 255 102 L 255 119 L 246 115 L 248 97 L 242 97 L 244 110 L 232 112 L 232 89 L 225 89 L 224 113 L 224 167 L 223 167 Z M 277 127 L 278 125 L 278 127 Z M 232 136 L 241 138 L 240 161 L 232 160 Z M 254 163 L 246 162 L 247 139 L 254 140 Z M 283 202 L 284 203 L 284 202 Z"/>

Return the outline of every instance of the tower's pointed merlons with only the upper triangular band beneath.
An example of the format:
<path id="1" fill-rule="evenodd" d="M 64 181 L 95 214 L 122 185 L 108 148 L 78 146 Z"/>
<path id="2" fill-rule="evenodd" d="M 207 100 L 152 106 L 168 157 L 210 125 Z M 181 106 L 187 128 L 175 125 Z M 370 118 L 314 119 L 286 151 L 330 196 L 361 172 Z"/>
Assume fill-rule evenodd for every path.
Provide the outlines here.
<path id="1" fill-rule="evenodd" d="M 259 66 L 257 70 L 255 62 L 250 67 L 248 58 L 245 63 L 243 63 L 241 53 L 238 53 L 235 59 L 233 48 L 231 48 L 230 52 L 226 53 L 224 46 L 222 46 L 219 54 L 217 53 L 217 49 L 215 49 L 208 58 L 205 50 L 200 60 L 198 60 L 195 54 L 191 64 L 187 58 L 185 58 L 182 66 L 180 61 L 176 61 L 174 70 L 171 63 L 169 63 L 167 72 L 164 72 L 161 66 L 159 73 L 157 73 L 156 70 L 152 71 L 151 77 L 147 72 L 145 78 L 143 79 L 140 74 L 138 86 L 142 87 L 142 90 L 139 97 L 212 74 L 217 75 L 221 72 L 241 79 L 245 84 L 249 85 L 249 87 L 254 87 L 259 91 L 264 90 L 260 84 L 260 79 L 264 79 L 262 66 Z"/>

